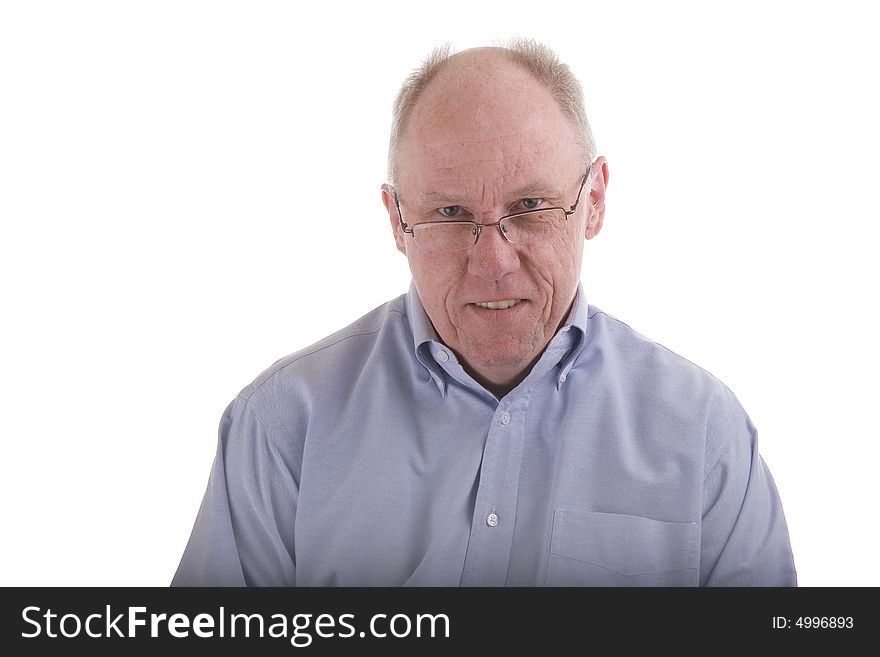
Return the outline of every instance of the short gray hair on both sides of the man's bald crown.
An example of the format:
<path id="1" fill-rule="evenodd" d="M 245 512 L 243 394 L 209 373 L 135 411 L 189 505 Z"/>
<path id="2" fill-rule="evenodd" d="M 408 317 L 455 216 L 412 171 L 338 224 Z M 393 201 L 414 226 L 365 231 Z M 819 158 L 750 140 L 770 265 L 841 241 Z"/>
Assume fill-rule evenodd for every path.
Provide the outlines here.
<path id="1" fill-rule="evenodd" d="M 580 146 L 584 151 L 584 166 L 592 162 L 596 157 L 596 143 L 584 108 L 583 89 L 571 69 L 560 62 L 559 57 L 549 47 L 533 39 L 511 39 L 500 48 L 500 52 L 509 61 L 531 73 L 550 91 L 577 130 Z M 422 65 L 409 75 L 397 93 L 388 145 L 388 179 L 392 183 L 397 178 L 397 153 L 413 108 L 431 80 L 454 54 L 448 43 L 435 48 Z"/>

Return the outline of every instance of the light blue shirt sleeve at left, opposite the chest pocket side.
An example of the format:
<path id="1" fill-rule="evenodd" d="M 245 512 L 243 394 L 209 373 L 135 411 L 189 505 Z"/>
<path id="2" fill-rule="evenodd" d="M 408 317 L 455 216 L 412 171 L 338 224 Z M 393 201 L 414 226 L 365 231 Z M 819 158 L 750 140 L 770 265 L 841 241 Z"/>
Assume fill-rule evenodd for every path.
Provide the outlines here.
<path id="1" fill-rule="evenodd" d="M 298 484 L 247 400 L 220 422 L 214 465 L 172 586 L 294 586 Z"/>

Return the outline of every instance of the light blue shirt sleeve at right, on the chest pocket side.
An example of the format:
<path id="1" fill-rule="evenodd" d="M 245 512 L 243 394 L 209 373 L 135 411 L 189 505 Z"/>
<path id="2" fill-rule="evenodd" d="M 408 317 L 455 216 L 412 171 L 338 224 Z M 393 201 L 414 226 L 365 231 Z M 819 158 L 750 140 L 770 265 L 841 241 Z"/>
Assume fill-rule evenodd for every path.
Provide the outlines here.
<path id="1" fill-rule="evenodd" d="M 717 456 L 707 462 L 700 585 L 797 586 L 776 484 L 758 453 L 755 427 L 733 403 L 714 436 Z"/>

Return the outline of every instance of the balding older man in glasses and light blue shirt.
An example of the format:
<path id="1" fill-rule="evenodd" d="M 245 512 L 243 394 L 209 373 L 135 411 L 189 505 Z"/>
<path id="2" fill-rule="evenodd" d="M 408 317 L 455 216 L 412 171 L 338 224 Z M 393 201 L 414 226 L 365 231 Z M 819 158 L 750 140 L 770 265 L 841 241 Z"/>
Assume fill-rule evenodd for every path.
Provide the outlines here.
<path id="1" fill-rule="evenodd" d="M 435 52 L 389 174 L 409 292 L 230 404 L 173 584 L 796 584 L 734 395 L 587 304 L 608 166 L 568 68 Z"/>

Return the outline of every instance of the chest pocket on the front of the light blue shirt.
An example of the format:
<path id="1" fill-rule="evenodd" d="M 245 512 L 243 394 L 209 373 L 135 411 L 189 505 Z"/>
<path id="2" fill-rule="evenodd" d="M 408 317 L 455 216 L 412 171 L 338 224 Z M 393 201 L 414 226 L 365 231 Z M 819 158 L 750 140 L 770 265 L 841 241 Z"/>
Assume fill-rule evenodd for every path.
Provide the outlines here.
<path id="1" fill-rule="evenodd" d="M 696 586 L 695 522 L 618 513 L 553 514 L 547 586 Z"/>

